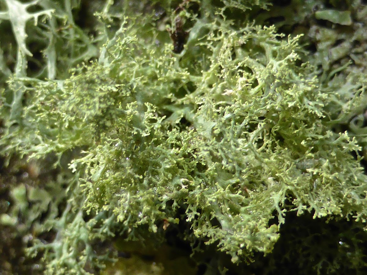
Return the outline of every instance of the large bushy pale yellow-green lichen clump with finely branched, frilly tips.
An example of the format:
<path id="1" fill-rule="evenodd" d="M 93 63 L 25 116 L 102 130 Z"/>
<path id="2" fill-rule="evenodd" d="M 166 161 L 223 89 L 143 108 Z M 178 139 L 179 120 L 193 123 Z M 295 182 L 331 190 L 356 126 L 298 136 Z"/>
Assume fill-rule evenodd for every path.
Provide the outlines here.
<path id="1" fill-rule="evenodd" d="M 49 11 L 49 2 L 38 6 Z M 56 1 L 64 2 L 70 4 Z M 280 32 L 282 21 L 266 23 L 277 9 L 270 1 L 184 1 L 179 27 L 187 37 L 180 51 L 166 28 L 179 3 L 112 2 L 97 13 L 94 41 L 78 34 L 76 43 L 66 26 L 50 32 L 62 8 L 47 13 L 51 19 L 34 26 L 58 40 L 50 38 L 46 63 L 28 77 L 21 62 L 30 60 L 20 52 L 20 71 L 3 91 L 3 154 L 52 159 L 67 175 L 61 180 L 65 203 L 52 206 L 61 214 L 40 222 L 40 232 L 51 230 L 54 238 L 43 242 L 36 235 L 28 249 L 42 253 L 46 274 L 97 272 L 113 259 L 113 249 L 95 249 L 96 242 L 155 240 L 158 246 L 182 223 L 192 249 L 214 246 L 236 264 L 255 260 L 249 268 L 259 253 L 272 253 L 279 232 L 287 234 L 281 228 L 289 228 L 292 212 L 366 226 L 364 135 L 356 128 L 338 131 L 367 107 L 366 82 L 357 76 L 364 65 L 341 60 L 334 68 L 346 55 L 335 53 L 338 46 L 334 63 L 320 63 L 320 30 L 316 53 L 305 54 L 305 36 L 316 25 L 310 33 Z M 293 11 L 302 6 L 289 5 Z M 313 16 L 339 23 L 326 11 Z M 298 24 L 311 16 L 305 12 L 286 21 Z M 85 31 L 72 20 L 70 29 Z M 70 63 L 68 77 L 58 65 L 72 62 L 70 53 L 50 55 L 62 39 L 75 43 L 74 54 L 85 61 Z M 314 264 L 317 272 L 334 272 L 321 260 Z"/>

